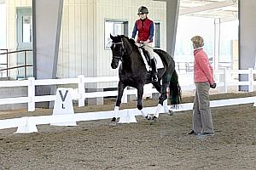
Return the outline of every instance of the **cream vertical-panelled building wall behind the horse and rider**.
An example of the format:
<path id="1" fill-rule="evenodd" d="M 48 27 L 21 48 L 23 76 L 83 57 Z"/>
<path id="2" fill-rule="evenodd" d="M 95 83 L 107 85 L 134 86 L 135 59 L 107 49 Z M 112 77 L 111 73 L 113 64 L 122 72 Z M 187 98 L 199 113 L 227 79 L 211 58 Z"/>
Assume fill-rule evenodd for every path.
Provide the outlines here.
<path id="1" fill-rule="evenodd" d="M 16 8 L 32 7 L 31 0 L 6 0 L 7 48 L 16 49 Z M 153 0 L 64 0 L 57 77 L 111 77 L 111 50 L 104 48 L 105 19 L 129 21 L 129 37 L 138 19 L 137 8 L 148 7 L 148 18 L 160 21 L 161 48 L 166 49 L 166 3 Z M 48 19 L 50 20 L 50 16 Z M 12 57 L 11 65 L 16 65 Z M 13 74 L 15 75 L 15 73 Z M 14 76 L 15 77 L 15 76 Z M 116 87 L 116 82 L 98 83 L 87 88 Z"/>

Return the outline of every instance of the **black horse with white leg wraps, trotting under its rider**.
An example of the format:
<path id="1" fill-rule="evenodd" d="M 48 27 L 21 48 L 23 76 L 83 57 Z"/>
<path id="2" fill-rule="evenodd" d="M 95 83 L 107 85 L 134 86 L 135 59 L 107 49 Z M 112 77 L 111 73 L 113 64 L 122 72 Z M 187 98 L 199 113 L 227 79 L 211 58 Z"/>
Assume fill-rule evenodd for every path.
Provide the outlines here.
<path id="1" fill-rule="evenodd" d="M 154 49 L 154 53 L 160 56 L 164 68 L 158 69 L 158 82 L 152 82 L 151 72 L 148 72 L 142 58 L 142 54 L 136 45 L 136 42 L 124 35 L 112 36 L 112 69 L 119 66 L 119 82 L 118 82 L 118 96 L 113 111 L 113 118 L 109 125 L 116 126 L 119 106 L 126 87 L 137 88 L 137 109 L 141 111 L 142 115 L 148 120 L 157 122 L 159 112 L 164 104 L 165 113 L 171 115 L 172 111 L 168 111 L 166 88 L 169 84 L 171 106 L 177 107 L 181 102 L 181 88 L 178 84 L 177 71 L 175 71 L 175 62 L 172 56 L 162 49 Z M 121 64 L 119 65 L 119 61 Z M 143 111 L 143 87 L 145 84 L 152 83 L 154 88 L 160 93 L 159 104 L 154 113 L 154 117 Z M 166 102 L 164 102 L 166 101 Z M 152 123 L 153 124 L 153 123 Z"/>

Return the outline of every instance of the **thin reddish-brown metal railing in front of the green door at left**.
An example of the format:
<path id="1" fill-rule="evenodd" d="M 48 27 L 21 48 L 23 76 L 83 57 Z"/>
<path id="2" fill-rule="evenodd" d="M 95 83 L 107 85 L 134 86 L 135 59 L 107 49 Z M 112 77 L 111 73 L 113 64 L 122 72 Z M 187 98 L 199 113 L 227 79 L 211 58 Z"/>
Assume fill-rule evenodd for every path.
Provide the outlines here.
<path id="1" fill-rule="evenodd" d="M 0 51 L 5 50 L 5 53 L 1 53 L 0 55 L 6 55 L 6 63 L 1 63 L 0 65 L 6 65 L 6 68 L 4 69 L 0 69 L 1 71 L 7 71 L 7 77 L 9 77 L 9 70 L 12 69 L 17 69 L 17 68 L 24 68 L 24 78 L 26 79 L 26 67 L 28 66 L 33 66 L 33 65 L 26 65 L 26 52 L 28 51 L 32 51 L 32 49 L 21 49 L 21 50 L 16 50 L 16 51 L 10 51 L 8 49 L 0 49 Z M 24 57 L 24 65 L 17 65 L 17 66 L 13 66 L 13 67 L 9 67 L 9 54 L 18 54 L 18 53 L 24 53 L 23 57 Z"/>

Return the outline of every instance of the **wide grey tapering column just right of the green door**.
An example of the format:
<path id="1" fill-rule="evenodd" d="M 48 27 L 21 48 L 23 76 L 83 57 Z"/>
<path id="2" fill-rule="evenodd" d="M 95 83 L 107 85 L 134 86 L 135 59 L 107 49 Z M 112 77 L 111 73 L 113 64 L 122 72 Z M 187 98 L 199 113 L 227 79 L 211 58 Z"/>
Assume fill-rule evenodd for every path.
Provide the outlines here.
<path id="1" fill-rule="evenodd" d="M 63 0 L 32 0 L 33 75 L 36 79 L 55 79 L 61 34 Z M 55 94 L 55 87 L 36 88 L 36 95 Z M 49 102 L 38 103 L 49 108 Z"/>

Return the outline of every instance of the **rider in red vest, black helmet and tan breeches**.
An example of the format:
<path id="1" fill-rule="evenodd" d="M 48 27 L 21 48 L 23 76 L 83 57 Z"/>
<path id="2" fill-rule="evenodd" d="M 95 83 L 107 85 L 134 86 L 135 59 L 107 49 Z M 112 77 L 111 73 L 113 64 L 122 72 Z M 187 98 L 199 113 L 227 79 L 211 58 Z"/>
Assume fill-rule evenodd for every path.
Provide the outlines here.
<path id="1" fill-rule="evenodd" d="M 140 17 L 139 20 L 136 20 L 135 25 L 133 27 L 131 38 L 135 38 L 137 35 L 137 46 L 143 42 L 143 46 L 146 51 L 148 51 L 150 63 L 152 67 L 152 81 L 158 82 L 157 77 L 157 68 L 156 68 L 156 60 L 154 59 L 154 52 L 152 48 L 153 36 L 154 36 L 154 22 L 148 19 L 148 8 L 141 6 L 138 8 L 138 13 Z"/>

